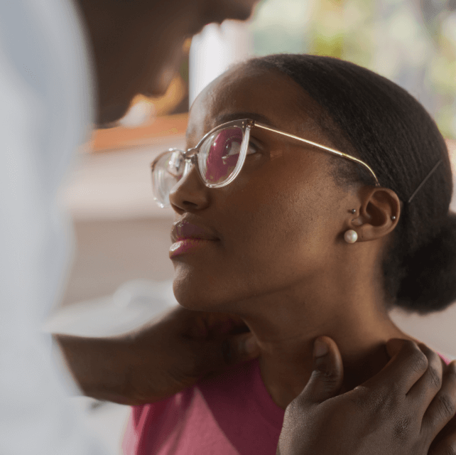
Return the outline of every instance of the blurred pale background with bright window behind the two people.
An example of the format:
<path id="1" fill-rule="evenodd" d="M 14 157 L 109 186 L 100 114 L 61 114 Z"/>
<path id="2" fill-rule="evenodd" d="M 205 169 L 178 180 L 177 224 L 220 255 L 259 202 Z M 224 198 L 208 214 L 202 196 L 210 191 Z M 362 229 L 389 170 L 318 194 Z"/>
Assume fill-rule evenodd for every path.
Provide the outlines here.
<path id="1" fill-rule="evenodd" d="M 150 164 L 161 151 L 185 145 L 189 105 L 202 87 L 251 55 L 332 55 L 389 77 L 433 114 L 456 164 L 456 0 L 264 0 L 249 22 L 209 24 L 184 48 L 168 92 L 137 97 L 118 127 L 95 131 L 78 154 L 61 193 L 74 220 L 74 261 L 50 330 L 120 333 L 174 303 L 173 213 L 153 202 Z M 456 357 L 456 307 L 393 317 Z M 111 453 L 121 453 L 129 408 L 74 400 Z"/>

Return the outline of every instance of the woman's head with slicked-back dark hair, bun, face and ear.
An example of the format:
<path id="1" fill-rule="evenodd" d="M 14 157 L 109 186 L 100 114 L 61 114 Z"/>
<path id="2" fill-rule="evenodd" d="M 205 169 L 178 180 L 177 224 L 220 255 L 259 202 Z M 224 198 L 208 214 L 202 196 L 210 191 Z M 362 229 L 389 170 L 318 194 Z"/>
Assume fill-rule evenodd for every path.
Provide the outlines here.
<path id="1" fill-rule="evenodd" d="M 216 239 L 171 254 L 180 304 L 291 323 L 302 311 L 337 321 L 354 309 L 384 314 L 396 304 L 426 313 L 456 299 L 450 160 L 411 95 L 335 58 L 257 58 L 197 97 L 188 146 L 246 118 L 361 159 L 379 186 L 353 161 L 254 127 L 234 181 L 208 188 L 193 167 L 170 193 L 177 219 Z M 239 139 L 225 136 L 217 141 L 227 158 L 239 154 Z M 357 242 L 344 240 L 347 230 Z"/>

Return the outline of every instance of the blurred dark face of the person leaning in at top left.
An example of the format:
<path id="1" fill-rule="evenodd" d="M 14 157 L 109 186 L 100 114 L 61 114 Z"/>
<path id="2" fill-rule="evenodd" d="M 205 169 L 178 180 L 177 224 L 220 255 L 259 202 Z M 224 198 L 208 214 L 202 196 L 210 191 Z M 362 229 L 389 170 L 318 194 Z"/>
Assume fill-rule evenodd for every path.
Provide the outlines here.
<path id="1" fill-rule="evenodd" d="M 163 95 L 185 38 L 207 23 L 245 20 L 258 0 L 76 0 L 87 24 L 97 82 L 97 124 L 126 113 L 136 95 Z"/>

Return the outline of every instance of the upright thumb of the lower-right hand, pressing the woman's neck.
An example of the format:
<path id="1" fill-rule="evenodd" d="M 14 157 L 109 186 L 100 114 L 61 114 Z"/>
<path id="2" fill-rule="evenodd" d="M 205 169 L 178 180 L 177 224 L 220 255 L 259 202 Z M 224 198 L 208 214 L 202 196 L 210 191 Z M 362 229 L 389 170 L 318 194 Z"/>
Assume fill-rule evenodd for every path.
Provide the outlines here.
<path id="1" fill-rule="evenodd" d="M 335 397 L 342 388 L 344 368 L 337 344 L 328 336 L 315 338 L 313 372 L 301 392 L 304 400 L 321 403 Z"/>

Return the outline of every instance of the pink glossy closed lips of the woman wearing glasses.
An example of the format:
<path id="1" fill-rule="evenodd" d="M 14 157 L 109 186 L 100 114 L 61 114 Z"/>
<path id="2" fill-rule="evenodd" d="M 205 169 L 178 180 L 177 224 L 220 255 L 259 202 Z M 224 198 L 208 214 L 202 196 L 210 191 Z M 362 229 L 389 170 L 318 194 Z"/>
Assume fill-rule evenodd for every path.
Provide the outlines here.
<path id="1" fill-rule="evenodd" d="M 171 240 L 173 245 L 170 247 L 170 258 L 173 258 L 216 242 L 219 238 L 209 228 L 180 220 L 173 223 Z"/>

